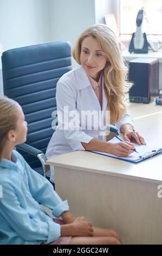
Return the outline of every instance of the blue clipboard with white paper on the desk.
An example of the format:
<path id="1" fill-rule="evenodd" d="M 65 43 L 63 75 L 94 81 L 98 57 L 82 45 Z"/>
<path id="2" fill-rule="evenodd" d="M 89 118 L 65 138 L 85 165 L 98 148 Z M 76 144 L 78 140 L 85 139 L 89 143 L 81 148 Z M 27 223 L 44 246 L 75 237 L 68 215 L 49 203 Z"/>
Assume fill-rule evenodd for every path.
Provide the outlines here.
<path id="1" fill-rule="evenodd" d="M 109 142 L 119 143 L 118 139 L 116 139 L 116 138 L 111 139 L 111 141 L 109 141 Z M 154 148 L 154 147 L 147 146 L 147 145 L 135 144 L 135 149 L 137 149 L 139 154 L 133 152 L 131 155 L 129 155 L 127 157 L 118 157 L 118 156 L 115 156 L 115 155 L 112 155 L 109 153 L 103 153 L 103 152 L 99 152 L 99 151 L 91 151 L 91 150 L 87 150 L 87 151 L 90 151 L 95 154 L 103 155 L 103 156 L 112 157 L 114 159 L 131 162 L 131 163 L 138 163 L 138 162 L 144 161 L 144 160 L 149 159 L 150 157 L 158 155 L 162 152 L 162 148 L 160 148 L 160 147 Z"/>

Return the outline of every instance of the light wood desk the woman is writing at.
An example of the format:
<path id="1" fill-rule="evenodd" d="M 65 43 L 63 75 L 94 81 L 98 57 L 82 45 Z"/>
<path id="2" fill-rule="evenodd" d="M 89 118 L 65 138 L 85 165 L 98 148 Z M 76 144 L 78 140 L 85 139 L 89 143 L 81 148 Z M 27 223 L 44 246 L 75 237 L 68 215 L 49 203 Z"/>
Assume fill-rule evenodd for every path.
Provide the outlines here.
<path id="1" fill-rule="evenodd" d="M 141 110 L 135 126 L 147 144 L 162 145 L 162 107 L 152 103 L 150 113 L 150 105 L 136 103 L 133 108 L 132 104 L 130 112 L 131 108 Z M 56 191 L 68 199 L 75 216 L 118 230 L 126 244 L 161 244 L 162 198 L 157 187 L 162 184 L 162 154 L 133 164 L 76 151 L 47 163 L 55 166 Z"/>

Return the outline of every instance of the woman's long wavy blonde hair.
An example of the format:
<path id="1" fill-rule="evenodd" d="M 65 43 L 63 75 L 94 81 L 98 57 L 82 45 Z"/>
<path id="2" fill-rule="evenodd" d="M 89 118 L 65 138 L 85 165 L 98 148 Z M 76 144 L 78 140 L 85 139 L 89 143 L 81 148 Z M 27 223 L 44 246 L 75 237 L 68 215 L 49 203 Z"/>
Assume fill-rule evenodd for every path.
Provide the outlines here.
<path id="1" fill-rule="evenodd" d="M 107 107 L 111 114 L 110 121 L 111 124 L 115 124 L 125 114 L 124 97 L 132 86 L 132 83 L 126 80 L 128 68 L 122 59 L 115 34 L 106 25 L 101 24 L 90 26 L 77 39 L 72 52 L 77 63 L 81 64 L 81 44 L 87 36 L 92 36 L 98 41 L 101 50 L 108 59 L 103 70 L 104 89 L 107 95 Z"/>

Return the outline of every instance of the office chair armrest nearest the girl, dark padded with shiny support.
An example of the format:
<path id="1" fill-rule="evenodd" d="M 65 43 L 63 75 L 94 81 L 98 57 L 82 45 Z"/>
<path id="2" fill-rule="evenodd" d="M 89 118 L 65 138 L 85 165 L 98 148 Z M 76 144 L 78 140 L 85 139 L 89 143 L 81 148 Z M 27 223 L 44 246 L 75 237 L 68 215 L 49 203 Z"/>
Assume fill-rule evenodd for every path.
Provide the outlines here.
<path id="1" fill-rule="evenodd" d="M 34 147 L 31 147 L 30 145 L 25 143 L 17 145 L 16 148 L 37 157 L 42 164 L 44 177 L 46 177 L 46 172 L 50 169 L 50 167 L 46 164 L 47 157 L 46 155 L 44 155 L 43 151 L 36 149 Z"/>

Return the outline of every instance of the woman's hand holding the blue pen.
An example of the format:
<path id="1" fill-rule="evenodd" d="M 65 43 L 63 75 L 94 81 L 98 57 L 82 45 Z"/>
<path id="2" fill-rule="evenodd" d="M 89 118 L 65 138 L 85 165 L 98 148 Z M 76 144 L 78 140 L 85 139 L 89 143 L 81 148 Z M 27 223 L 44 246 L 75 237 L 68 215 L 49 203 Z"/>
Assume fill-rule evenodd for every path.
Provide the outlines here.
<path id="1" fill-rule="evenodd" d="M 109 147 L 110 154 L 113 154 L 118 157 L 126 157 L 133 153 L 134 145 L 131 142 L 119 142 L 119 143 L 111 143 L 111 147 Z"/>

